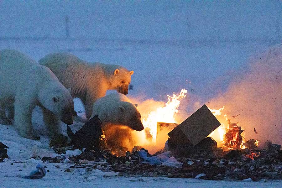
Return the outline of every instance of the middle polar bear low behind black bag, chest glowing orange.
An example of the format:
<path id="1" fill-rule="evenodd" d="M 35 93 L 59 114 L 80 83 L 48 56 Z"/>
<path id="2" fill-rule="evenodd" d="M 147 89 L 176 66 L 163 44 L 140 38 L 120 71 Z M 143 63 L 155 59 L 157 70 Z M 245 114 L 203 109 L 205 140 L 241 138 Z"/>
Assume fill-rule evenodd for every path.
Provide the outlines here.
<path id="1" fill-rule="evenodd" d="M 136 140 L 133 130 L 142 131 L 141 114 L 137 104 L 132 104 L 125 95 L 112 93 L 99 98 L 93 105 L 92 116 L 101 120 L 107 144 L 133 147 Z"/>

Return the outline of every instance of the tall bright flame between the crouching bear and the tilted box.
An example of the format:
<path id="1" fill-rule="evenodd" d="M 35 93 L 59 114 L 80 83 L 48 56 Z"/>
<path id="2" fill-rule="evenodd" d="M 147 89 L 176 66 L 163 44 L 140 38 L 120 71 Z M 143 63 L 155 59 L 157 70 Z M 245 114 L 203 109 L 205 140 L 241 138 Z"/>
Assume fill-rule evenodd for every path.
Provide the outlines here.
<path id="1" fill-rule="evenodd" d="M 181 99 L 186 97 L 186 93 L 187 90 L 182 89 L 178 96 L 174 93 L 172 97 L 168 95 L 168 102 L 165 103 L 164 107 L 157 108 L 157 110 L 150 112 L 148 118 L 143 119 L 144 128 L 150 129 L 153 143 L 156 142 L 157 122 L 177 123 L 175 122 L 174 115 L 178 112 L 177 108 L 180 105 Z"/>

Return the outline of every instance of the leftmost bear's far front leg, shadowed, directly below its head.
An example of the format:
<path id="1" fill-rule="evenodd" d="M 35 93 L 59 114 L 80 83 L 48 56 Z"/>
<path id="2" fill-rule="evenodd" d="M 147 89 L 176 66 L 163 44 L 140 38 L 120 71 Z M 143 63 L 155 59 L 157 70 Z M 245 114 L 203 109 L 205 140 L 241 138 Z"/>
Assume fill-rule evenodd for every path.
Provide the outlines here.
<path id="1" fill-rule="evenodd" d="M 43 120 L 48 128 L 48 134 L 50 137 L 55 134 L 61 133 L 61 120 L 53 112 L 41 106 L 43 112 Z"/>

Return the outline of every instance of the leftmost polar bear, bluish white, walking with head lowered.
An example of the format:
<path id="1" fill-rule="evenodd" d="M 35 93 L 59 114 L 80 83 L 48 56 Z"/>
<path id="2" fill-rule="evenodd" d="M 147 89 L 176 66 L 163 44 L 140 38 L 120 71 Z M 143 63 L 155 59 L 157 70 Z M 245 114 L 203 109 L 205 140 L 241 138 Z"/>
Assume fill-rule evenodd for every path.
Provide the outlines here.
<path id="1" fill-rule="evenodd" d="M 73 99 L 52 71 L 16 50 L 0 50 L 0 123 L 11 125 L 14 118 L 18 133 L 39 139 L 34 133 L 31 116 L 35 106 L 43 111 L 50 136 L 60 133 L 60 119 L 73 123 Z M 5 114 L 8 111 L 8 118 Z"/>

